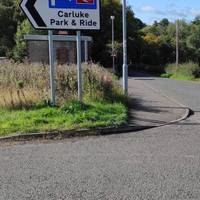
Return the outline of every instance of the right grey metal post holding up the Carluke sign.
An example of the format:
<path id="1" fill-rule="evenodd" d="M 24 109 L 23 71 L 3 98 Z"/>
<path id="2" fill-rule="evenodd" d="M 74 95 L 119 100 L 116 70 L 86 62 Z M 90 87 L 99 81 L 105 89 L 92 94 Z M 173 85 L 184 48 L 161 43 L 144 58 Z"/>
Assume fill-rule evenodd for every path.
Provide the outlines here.
<path id="1" fill-rule="evenodd" d="M 78 73 L 78 100 L 82 101 L 82 69 L 81 69 L 81 32 L 77 31 L 77 73 Z"/>

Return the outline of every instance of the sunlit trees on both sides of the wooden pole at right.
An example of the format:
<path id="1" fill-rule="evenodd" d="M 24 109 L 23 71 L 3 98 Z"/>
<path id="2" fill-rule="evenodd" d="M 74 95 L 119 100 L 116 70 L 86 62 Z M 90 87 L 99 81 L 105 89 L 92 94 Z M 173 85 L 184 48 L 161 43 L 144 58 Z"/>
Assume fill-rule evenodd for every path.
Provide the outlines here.
<path id="1" fill-rule="evenodd" d="M 178 21 L 180 62 L 200 63 L 200 17 L 191 23 Z M 176 24 L 163 19 L 141 30 L 143 48 L 141 63 L 162 65 L 175 61 Z"/>

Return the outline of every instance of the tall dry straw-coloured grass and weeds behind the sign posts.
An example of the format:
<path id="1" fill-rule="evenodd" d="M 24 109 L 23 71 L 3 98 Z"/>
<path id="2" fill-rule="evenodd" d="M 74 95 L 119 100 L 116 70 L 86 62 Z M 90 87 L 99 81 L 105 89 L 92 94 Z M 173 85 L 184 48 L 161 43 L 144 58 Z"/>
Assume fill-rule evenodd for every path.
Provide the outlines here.
<path id="1" fill-rule="evenodd" d="M 77 97 L 75 65 L 56 66 L 56 97 L 58 105 Z M 84 98 L 122 100 L 117 79 L 96 64 L 83 64 Z M 0 64 L 0 107 L 30 108 L 48 103 L 50 97 L 49 66 L 43 64 Z"/>

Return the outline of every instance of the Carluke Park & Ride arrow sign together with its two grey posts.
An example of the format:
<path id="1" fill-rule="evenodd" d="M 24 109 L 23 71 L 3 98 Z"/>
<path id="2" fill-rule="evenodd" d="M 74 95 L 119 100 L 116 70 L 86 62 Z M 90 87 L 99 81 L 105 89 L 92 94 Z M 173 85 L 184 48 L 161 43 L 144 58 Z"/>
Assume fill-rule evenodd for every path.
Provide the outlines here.
<path id="1" fill-rule="evenodd" d="M 52 30 L 77 30 L 78 98 L 82 101 L 81 30 L 100 29 L 99 0 L 22 0 L 20 6 L 34 28 L 49 30 L 52 105 L 56 104 Z"/>

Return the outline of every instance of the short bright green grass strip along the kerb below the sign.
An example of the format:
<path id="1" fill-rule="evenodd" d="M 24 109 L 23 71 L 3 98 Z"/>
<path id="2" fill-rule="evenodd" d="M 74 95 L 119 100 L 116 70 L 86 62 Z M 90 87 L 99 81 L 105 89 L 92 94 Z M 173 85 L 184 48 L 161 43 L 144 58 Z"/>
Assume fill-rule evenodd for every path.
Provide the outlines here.
<path id="1" fill-rule="evenodd" d="M 54 130 L 117 127 L 127 122 L 124 104 L 109 101 L 71 101 L 61 107 L 40 106 L 29 110 L 0 109 L 0 136 Z"/>

